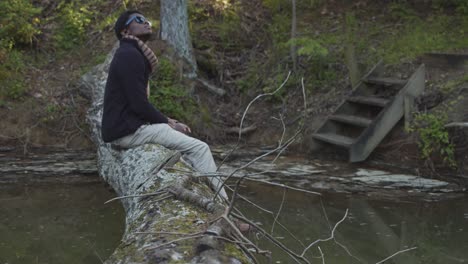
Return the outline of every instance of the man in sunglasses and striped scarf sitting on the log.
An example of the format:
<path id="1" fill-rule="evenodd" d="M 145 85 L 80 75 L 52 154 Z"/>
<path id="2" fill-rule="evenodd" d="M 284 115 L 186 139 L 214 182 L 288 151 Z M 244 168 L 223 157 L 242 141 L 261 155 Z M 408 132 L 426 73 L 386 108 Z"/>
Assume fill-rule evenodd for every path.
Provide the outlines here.
<path id="1" fill-rule="evenodd" d="M 180 151 L 184 159 L 201 173 L 216 172 L 216 164 L 208 145 L 187 136 L 190 128 L 166 117 L 148 100 L 148 80 L 158 59 L 145 42 L 152 33 L 151 23 L 138 11 L 126 11 L 115 23 L 120 40 L 109 68 L 102 116 L 102 138 L 122 148 L 146 143 L 160 144 Z M 210 178 L 218 190 L 222 182 Z M 227 199 L 224 188 L 221 197 Z"/>

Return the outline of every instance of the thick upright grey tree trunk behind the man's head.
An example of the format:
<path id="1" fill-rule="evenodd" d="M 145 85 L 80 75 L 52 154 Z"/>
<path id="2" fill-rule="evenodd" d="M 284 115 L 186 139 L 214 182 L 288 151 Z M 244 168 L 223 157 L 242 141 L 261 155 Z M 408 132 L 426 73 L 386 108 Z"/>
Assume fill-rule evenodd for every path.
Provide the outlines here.
<path id="1" fill-rule="evenodd" d="M 193 54 L 188 28 L 187 0 L 161 0 L 161 39 L 171 45 L 177 56 L 186 60 L 190 78 L 197 76 L 197 62 Z"/>

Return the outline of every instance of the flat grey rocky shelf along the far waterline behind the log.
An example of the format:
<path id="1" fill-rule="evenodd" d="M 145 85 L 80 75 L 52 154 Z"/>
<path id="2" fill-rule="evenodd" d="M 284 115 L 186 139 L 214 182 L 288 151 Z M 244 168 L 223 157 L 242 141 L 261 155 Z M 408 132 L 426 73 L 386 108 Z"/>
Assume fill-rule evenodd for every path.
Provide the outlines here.
<path id="1" fill-rule="evenodd" d="M 217 163 L 230 149 L 213 147 Z M 221 166 L 229 174 L 235 168 L 265 150 L 239 150 Z M 235 176 L 252 175 L 254 183 L 268 181 L 324 194 L 349 194 L 373 200 L 441 201 L 466 195 L 466 185 L 460 181 L 431 179 L 413 175 L 407 170 L 383 166 L 356 165 L 339 161 L 308 159 L 302 156 L 281 156 L 261 159 Z M 96 154 L 88 151 L 45 152 L 32 150 L 27 156 L 14 152 L 0 153 L 0 183 L 96 183 Z M 248 181 L 247 181 L 248 182 Z"/>

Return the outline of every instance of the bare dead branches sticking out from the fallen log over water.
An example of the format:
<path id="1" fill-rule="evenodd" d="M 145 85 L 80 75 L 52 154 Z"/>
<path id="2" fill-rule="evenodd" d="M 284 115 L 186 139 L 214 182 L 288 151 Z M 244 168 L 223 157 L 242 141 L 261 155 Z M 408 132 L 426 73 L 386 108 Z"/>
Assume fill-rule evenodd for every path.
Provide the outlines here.
<path id="1" fill-rule="evenodd" d="M 288 78 L 289 78 L 289 75 L 288 75 Z M 307 109 L 304 81 L 302 80 L 301 83 L 302 83 L 302 93 L 304 97 L 304 109 Z M 282 86 L 284 84 L 285 82 L 282 84 Z M 243 114 L 241 126 L 239 127 L 239 140 L 242 137 L 242 125 L 243 125 L 244 118 L 248 112 L 248 109 L 252 105 L 252 103 L 258 98 L 259 97 L 256 97 L 256 99 L 254 99 L 251 103 L 249 103 L 247 109 L 245 110 Z M 303 118 L 305 118 L 305 116 L 306 116 L 306 111 L 304 110 Z M 159 254 L 157 253 L 159 251 L 162 252 L 163 250 L 168 250 L 169 248 L 175 248 L 177 247 L 178 244 L 180 245 L 180 243 L 183 241 L 190 240 L 191 242 L 192 240 L 195 240 L 193 242 L 195 256 L 204 256 L 204 254 L 208 254 L 208 252 L 212 252 L 212 251 L 222 252 L 223 243 L 227 242 L 227 243 L 232 243 L 238 246 L 238 248 L 242 249 L 242 251 L 245 253 L 245 256 L 248 256 L 251 259 L 251 261 L 254 263 L 258 263 L 256 259 L 256 257 L 258 256 L 264 256 L 268 258 L 271 262 L 271 252 L 269 250 L 265 250 L 261 248 L 249 236 L 247 236 L 245 233 L 242 232 L 243 230 L 241 230 L 241 227 L 247 225 L 248 227 L 247 229 L 249 229 L 249 231 L 255 232 L 259 236 L 266 238 L 273 245 L 277 246 L 281 251 L 283 251 L 285 254 L 290 256 L 291 262 L 294 261 L 295 263 L 312 263 L 312 260 L 310 259 L 311 258 L 310 253 L 308 253 L 308 251 L 312 247 L 314 248 L 317 247 L 320 252 L 320 258 L 322 260 L 322 263 L 324 263 L 325 255 L 322 252 L 318 244 L 321 242 L 326 242 L 326 241 L 331 241 L 331 240 L 334 240 L 336 244 L 343 247 L 346 250 L 346 252 L 350 256 L 352 256 L 349 253 L 349 251 L 344 246 L 339 244 L 338 241 L 336 241 L 335 239 L 336 229 L 345 220 L 348 211 L 346 211 L 343 219 L 338 221 L 333 228 L 330 227 L 331 235 L 329 238 L 318 239 L 309 245 L 304 245 L 304 243 L 302 243 L 297 237 L 294 236 L 293 232 L 288 230 L 287 226 L 281 224 L 280 216 L 281 216 L 281 213 L 284 211 L 283 209 L 285 208 L 284 205 L 286 201 L 286 193 L 287 193 L 287 190 L 295 190 L 295 191 L 300 191 L 303 193 L 314 194 L 314 195 L 319 195 L 319 196 L 320 196 L 320 193 L 309 191 L 309 190 L 304 190 L 300 188 L 295 188 L 295 187 L 287 186 L 284 184 L 278 184 L 278 183 L 272 183 L 272 182 L 268 182 L 264 180 L 254 179 L 252 177 L 253 175 L 266 173 L 266 171 L 256 173 L 256 174 L 246 173 L 246 174 L 243 174 L 242 176 L 236 175 L 241 170 L 251 166 L 258 160 L 264 157 L 267 157 L 269 155 L 275 155 L 274 159 L 272 160 L 272 163 L 276 162 L 276 160 L 280 157 L 280 155 L 290 146 L 290 144 L 292 144 L 296 140 L 298 135 L 300 135 L 300 133 L 303 131 L 303 124 L 305 122 L 302 122 L 301 123 L 302 125 L 299 128 L 297 128 L 295 133 L 291 137 L 287 138 L 286 137 L 286 125 L 285 125 L 283 116 L 280 115 L 278 120 L 282 124 L 283 133 L 281 135 L 281 138 L 279 139 L 277 147 L 271 151 L 268 151 L 267 153 L 264 153 L 258 157 L 253 158 L 251 161 L 247 162 L 246 164 L 239 166 L 238 168 L 235 168 L 230 173 L 221 173 L 219 171 L 215 173 L 210 173 L 210 174 L 193 173 L 189 170 L 172 167 L 174 165 L 173 162 L 168 162 L 167 160 L 161 160 L 161 163 L 157 166 L 157 168 L 154 169 L 154 171 L 151 170 L 150 175 L 157 174 L 159 170 L 163 169 L 163 167 L 164 167 L 164 173 L 170 170 L 182 172 L 182 173 L 177 174 L 177 177 L 175 178 L 176 180 L 174 180 L 174 182 L 171 181 L 169 185 L 163 185 L 163 187 L 159 186 L 154 189 L 146 189 L 147 190 L 146 193 L 143 191 L 142 192 L 127 192 L 127 193 L 123 193 L 120 197 L 109 200 L 108 202 L 113 201 L 113 200 L 121 200 L 123 203 L 129 201 L 129 202 L 135 202 L 135 204 L 136 202 L 142 202 L 142 203 L 146 203 L 143 206 L 148 206 L 148 208 L 160 207 L 161 205 L 165 203 L 170 203 L 170 202 L 172 202 L 173 204 L 179 204 L 180 202 L 174 203 L 174 200 L 178 200 L 178 201 L 183 201 L 184 204 L 190 204 L 190 205 L 194 205 L 193 207 L 202 208 L 204 211 L 207 211 L 210 213 L 209 217 L 204 218 L 202 223 L 197 224 L 197 225 L 201 225 L 199 228 L 196 229 L 196 231 L 198 232 L 193 232 L 193 233 L 190 233 L 190 232 L 184 233 L 182 230 L 181 230 L 182 232 L 177 232 L 178 229 L 173 228 L 172 226 L 169 226 L 169 229 L 161 229 L 161 228 L 148 229 L 146 228 L 146 226 L 151 221 L 146 222 L 146 223 L 139 222 L 138 225 L 134 224 L 134 226 L 142 227 L 142 228 L 132 229 L 130 231 L 130 235 L 126 237 L 125 241 L 128 241 L 126 243 L 132 243 L 131 241 L 134 241 L 136 239 L 143 239 L 144 241 L 147 241 L 148 243 L 141 243 L 141 247 L 139 248 L 138 252 L 143 252 L 142 254 L 147 255 L 147 256 L 151 254 L 154 256 L 159 256 L 157 255 Z M 237 148 L 237 146 L 235 148 Z M 172 160 L 172 158 L 170 159 Z M 224 203 L 224 201 L 222 201 L 221 199 L 217 199 L 218 193 L 215 193 L 211 197 L 209 192 L 208 193 L 200 192 L 200 190 L 197 189 L 198 187 L 194 187 L 195 185 L 189 184 L 189 182 L 194 180 L 194 178 L 207 178 L 207 177 L 220 177 L 220 178 L 225 179 L 225 181 L 223 182 L 223 186 L 232 190 L 232 197 L 229 203 Z M 141 184 L 139 186 L 145 184 L 149 179 L 152 179 L 152 178 L 149 177 L 148 179 L 146 178 L 141 179 Z M 233 188 L 225 184 L 228 179 L 235 179 L 235 186 Z M 248 198 L 242 196 L 240 194 L 240 186 L 245 181 L 256 181 L 262 184 L 268 184 L 274 187 L 282 188 L 283 197 L 282 197 L 281 204 L 279 205 L 277 209 L 277 212 L 271 212 L 263 208 L 261 205 L 256 204 L 255 201 L 250 201 Z M 125 186 L 127 186 L 127 184 L 128 183 L 126 183 Z M 158 195 L 160 195 L 160 197 L 155 197 Z M 127 198 L 141 198 L 141 199 L 127 199 Z M 271 215 L 272 220 L 273 220 L 273 225 L 271 227 L 271 230 L 267 231 L 265 228 L 262 228 L 260 224 L 252 221 L 251 219 L 249 219 L 248 217 L 242 214 L 239 208 L 236 207 L 239 200 L 241 199 L 248 202 L 252 206 L 255 206 L 259 210 L 262 210 L 263 212 L 266 212 Z M 162 200 L 164 200 L 164 203 L 161 202 Z M 145 212 L 143 213 L 144 213 L 143 215 L 145 215 Z M 151 219 L 151 216 L 148 218 Z M 138 219 L 142 219 L 142 218 L 140 217 Z M 143 220 L 145 219 L 142 219 L 142 221 Z M 289 235 L 291 235 L 291 237 L 293 237 L 297 242 L 299 242 L 300 245 L 302 245 L 302 248 L 299 248 L 299 249 L 291 248 L 287 244 L 283 244 L 279 238 L 274 237 L 273 233 L 275 229 L 278 229 L 279 227 L 284 229 L 286 232 L 289 233 Z M 201 229 L 201 232 L 200 232 L 200 229 Z M 149 232 L 149 231 L 157 231 L 157 232 Z M 404 251 L 400 253 L 403 253 L 403 252 Z M 312 258 L 316 258 L 316 257 L 312 256 Z M 216 259 L 216 257 L 212 257 L 211 259 Z"/>

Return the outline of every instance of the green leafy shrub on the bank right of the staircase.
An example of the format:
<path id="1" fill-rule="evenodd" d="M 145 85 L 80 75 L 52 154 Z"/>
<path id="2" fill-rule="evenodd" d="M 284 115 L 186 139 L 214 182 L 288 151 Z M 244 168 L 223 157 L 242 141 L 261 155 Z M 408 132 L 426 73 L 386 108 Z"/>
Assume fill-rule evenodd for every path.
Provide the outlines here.
<path id="1" fill-rule="evenodd" d="M 445 112 L 416 114 L 410 132 L 419 136 L 418 146 L 423 159 L 431 159 L 440 155 L 444 163 L 456 167 L 455 150 L 450 142 L 449 133 L 445 128 L 448 116 Z"/>

